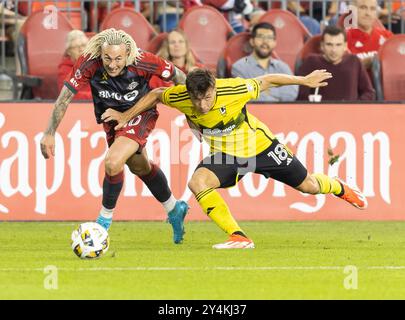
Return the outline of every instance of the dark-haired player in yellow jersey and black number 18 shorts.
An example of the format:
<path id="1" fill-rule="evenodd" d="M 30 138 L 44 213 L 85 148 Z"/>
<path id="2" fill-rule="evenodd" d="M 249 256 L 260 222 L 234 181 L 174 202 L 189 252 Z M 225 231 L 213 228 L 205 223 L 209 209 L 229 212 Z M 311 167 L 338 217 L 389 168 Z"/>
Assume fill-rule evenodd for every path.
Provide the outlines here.
<path id="1" fill-rule="evenodd" d="M 187 75 L 186 85 L 155 89 L 124 113 L 108 109 L 102 119 L 117 121 L 118 129 L 159 101 L 183 112 L 190 127 L 211 147 L 211 155 L 197 166 L 188 186 L 203 211 L 230 236 L 213 248 L 254 248 L 216 191 L 235 185 L 248 172 L 271 177 L 304 193 L 331 193 L 356 208 L 367 207 L 360 191 L 340 179 L 308 174 L 267 126 L 246 110 L 249 100 L 270 87 L 296 84 L 316 88 L 327 85 L 331 77 L 326 70 L 315 70 L 305 77 L 267 74 L 254 79 L 215 79 L 210 71 L 196 69 Z"/>

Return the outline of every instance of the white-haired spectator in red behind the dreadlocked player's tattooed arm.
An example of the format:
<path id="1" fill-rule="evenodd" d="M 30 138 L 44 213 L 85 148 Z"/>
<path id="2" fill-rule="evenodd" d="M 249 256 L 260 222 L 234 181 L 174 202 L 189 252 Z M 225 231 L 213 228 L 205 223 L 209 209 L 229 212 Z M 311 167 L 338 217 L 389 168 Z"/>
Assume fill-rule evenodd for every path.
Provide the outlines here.
<path id="1" fill-rule="evenodd" d="M 58 66 L 58 88 L 62 89 L 66 77 L 70 75 L 76 60 L 82 55 L 89 39 L 81 30 L 72 30 L 66 39 L 66 50 Z M 90 86 L 81 89 L 74 100 L 92 100 Z"/>

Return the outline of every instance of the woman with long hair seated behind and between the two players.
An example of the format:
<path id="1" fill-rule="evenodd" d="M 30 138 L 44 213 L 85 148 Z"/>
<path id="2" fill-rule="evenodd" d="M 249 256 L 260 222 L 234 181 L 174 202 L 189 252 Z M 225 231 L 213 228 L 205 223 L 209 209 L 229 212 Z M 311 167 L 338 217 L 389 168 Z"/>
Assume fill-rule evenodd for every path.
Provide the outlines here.
<path id="1" fill-rule="evenodd" d="M 195 68 L 204 68 L 204 65 L 196 61 L 186 35 L 181 30 L 173 30 L 168 34 L 157 56 L 173 62 L 185 74 Z M 156 76 L 153 76 L 149 81 L 151 88 L 170 87 L 172 85 L 171 81 L 163 81 Z"/>

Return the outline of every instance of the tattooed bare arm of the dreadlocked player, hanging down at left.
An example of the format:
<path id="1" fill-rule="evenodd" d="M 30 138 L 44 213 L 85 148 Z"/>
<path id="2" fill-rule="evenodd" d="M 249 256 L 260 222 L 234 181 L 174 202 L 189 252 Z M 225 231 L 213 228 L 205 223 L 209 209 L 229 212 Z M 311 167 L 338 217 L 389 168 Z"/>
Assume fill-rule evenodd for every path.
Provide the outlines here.
<path id="1" fill-rule="evenodd" d="M 55 102 L 55 107 L 52 111 L 51 118 L 48 122 L 48 127 L 44 132 L 44 136 L 41 139 L 41 153 L 45 159 L 49 156 L 55 155 L 55 133 L 63 116 L 65 115 L 66 109 L 72 101 L 74 93 L 69 90 L 68 87 L 63 86 L 58 99 Z"/>

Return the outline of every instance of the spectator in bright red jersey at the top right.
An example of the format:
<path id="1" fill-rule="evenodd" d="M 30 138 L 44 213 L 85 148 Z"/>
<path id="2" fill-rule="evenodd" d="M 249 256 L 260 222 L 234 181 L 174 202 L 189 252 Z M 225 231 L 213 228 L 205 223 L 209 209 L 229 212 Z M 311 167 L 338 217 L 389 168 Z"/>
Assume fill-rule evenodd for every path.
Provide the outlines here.
<path id="1" fill-rule="evenodd" d="M 347 31 L 347 43 L 349 50 L 360 58 L 367 69 L 370 69 L 378 49 L 392 33 L 375 26 L 378 19 L 377 0 L 356 0 L 355 5 L 358 28 Z"/>

